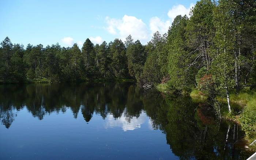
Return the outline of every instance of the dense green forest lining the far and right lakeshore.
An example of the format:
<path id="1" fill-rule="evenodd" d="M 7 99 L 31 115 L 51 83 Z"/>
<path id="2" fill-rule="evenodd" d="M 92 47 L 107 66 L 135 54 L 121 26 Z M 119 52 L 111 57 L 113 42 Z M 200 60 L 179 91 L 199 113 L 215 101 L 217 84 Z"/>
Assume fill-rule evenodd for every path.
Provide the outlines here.
<path id="1" fill-rule="evenodd" d="M 206 96 L 220 118 L 222 102 L 231 114 L 232 103 L 244 95 L 241 103 L 252 104 L 244 111 L 249 133 L 256 122 L 255 36 L 255 0 L 200 0 L 189 16 L 178 15 L 168 33 L 154 33 L 146 45 L 129 35 L 124 42 L 96 45 L 87 38 L 82 49 L 76 43 L 25 48 L 6 37 L 0 47 L 0 82 L 133 79 L 172 94 Z"/>

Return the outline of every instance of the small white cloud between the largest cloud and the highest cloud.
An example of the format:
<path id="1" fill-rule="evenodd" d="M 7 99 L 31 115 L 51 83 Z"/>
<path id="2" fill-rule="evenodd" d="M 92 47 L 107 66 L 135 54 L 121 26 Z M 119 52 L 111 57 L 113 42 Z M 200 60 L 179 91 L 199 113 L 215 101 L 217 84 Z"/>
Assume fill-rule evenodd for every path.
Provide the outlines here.
<path id="1" fill-rule="evenodd" d="M 155 33 L 156 31 L 159 31 L 160 34 L 165 34 L 167 33 L 169 27 L 171 26 L 171 22 L 170 20 L 166 20 L 164 22 L 158 17 L 152 17 L 150 19 L 149 26 L 152 34 Z"/>

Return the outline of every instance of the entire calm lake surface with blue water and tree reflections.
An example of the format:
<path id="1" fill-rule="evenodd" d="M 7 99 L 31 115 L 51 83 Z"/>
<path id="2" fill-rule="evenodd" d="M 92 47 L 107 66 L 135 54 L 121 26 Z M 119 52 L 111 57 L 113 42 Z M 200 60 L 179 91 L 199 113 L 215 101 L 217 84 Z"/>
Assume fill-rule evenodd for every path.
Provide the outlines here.
<path id="1" fill-rule="evenodd" d="M 133 83 L 0 85 L 0 159 L 246 159 L 206 104 Z"/>

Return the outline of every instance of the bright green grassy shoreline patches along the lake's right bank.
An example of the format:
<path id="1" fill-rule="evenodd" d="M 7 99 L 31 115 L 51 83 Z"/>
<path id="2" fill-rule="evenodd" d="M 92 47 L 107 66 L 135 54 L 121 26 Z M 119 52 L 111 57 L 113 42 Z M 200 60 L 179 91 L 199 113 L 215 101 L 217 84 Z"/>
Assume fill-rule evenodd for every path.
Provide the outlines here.
<path id="1" fill-rule="evenodd" d="M 171 95 L 172 93 L 168 91 L 167 84 L 158 84 L 155 86 L 155 88 L 159 92 L 163 92 L 164 94 Z M 199 102 L 207 102 L 207 95 L 203 94 L 198 89 L 193 89 L 189 94 L 185 93 L 186 95 L 190 96 L 192 99 L 199 101 Z M 246 141 L 245 148 L 248 148 L 250 151 L 255 152 L 256 151 L 256 143 L 253 143 L 256 141 L 256 134 L 253 130 L 256 128 L 256 123 L 254 125 L 248 125 L 248 118 L 251 119 L 251 117 L 248 116 L 248 112 L 256 112 L 256 93 L 249 91 L 249 90 L 241 90 L 240 94 L 231 94 L 230 95 L 230 102 L 231 106 L 233 107 L 233 110 L 231 113 L 228 113 L 226 110 L 226 99 L 222 98 L 220 96 L 217 96 L 217 100 L 222 105 L 222 119 L 230 122 L 237 123 L 241 126 L 241 129 L 245 132 L 244 140 Z M 236 111 L 234 111 L 236 110 Z M 245 121 L 245 122 L 244 122 Z M 249 132 L 250 130 L 251 132 Z"/>

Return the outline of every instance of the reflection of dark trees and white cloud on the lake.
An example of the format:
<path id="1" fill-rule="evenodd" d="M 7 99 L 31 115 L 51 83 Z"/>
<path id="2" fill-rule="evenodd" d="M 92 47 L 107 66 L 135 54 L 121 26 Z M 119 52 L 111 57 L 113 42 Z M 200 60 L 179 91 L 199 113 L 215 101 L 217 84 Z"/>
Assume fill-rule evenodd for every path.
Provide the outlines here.
<path id="1" fill-rule="evenodd" d="M 166 98 L 132 83 L 0 85 L 0 93 L 0 119 L 7 129 L 23 108 L 39 120 L 70 109 L 75 119 L 82 114 L 86 123 L 100 115 L 105 129 L 150 125 L 166 135 L 170 151 L 180 159 L 248 157 L 241 149 L 239 126 L 219 121 L 208 106 L 189 97 Z"/>

